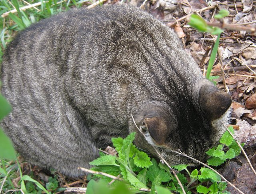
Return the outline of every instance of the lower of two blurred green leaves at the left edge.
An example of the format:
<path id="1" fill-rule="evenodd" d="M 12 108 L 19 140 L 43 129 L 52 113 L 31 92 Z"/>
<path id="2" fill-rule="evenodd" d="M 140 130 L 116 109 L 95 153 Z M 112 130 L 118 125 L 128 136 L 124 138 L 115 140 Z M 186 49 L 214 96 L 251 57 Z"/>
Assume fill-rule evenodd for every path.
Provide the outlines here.
<path id="1" fill-rule="evenodd" d="M 0 158 L 15 160 L 15 150 L 10 139 L 4 134 L 0 128 Z"/>

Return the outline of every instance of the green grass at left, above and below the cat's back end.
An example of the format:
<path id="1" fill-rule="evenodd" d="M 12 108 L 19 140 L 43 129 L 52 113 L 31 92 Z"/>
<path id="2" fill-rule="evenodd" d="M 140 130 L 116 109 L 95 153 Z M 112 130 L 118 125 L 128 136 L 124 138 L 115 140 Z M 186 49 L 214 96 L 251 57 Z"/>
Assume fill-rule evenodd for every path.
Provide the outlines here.
<path id="1" fill-rule="evenodd" d="M 38 3 L 38 6 L 22 10 L 24 6 L 36 3 Z M 0 64 L 2 63 L 4 49 L 20 30 L 23 30 L 39 20 L 49 18 L 54 14 L 64 12 L 70 8 L 79 8 L 86 4 L 92 4 L 92 0 L 0 0 L 0 16 L 11 10 L 18 10 L 5 17 L 0 17 Z M 23 168 L 20 166 L 24 166 L 26 163 L 19 163 L 19 161 L 18 159 L 16 161 L 6 159 L 0 160 L 0 194 L 5 193 L 8 190 L 14 190 L 15 193 L 21 193 L 20 186 L 21 188 L 25 187 L 28 193 L 39 194 L 44 190 L 41 184 L 46 186 L 48 193 L 55 193 L 62 190 L 62 188 L 58 188 L 59 182 L 57 176 L 54 174 L 52 174 L 52 177 L 49 178 L 48 182 L 42 180 L 40 180 L 40 182 L 30 180 L 26 181 L 25 184 L 24 181 L 19 181 L 20 178 L 23 178 L 24 180 L 30 178 L 37 179 L 32 170 L 28 172 L 29 176 L 24 176 L 22 174 Z M 8 175 L 6 176 L 6 174 Z"/>

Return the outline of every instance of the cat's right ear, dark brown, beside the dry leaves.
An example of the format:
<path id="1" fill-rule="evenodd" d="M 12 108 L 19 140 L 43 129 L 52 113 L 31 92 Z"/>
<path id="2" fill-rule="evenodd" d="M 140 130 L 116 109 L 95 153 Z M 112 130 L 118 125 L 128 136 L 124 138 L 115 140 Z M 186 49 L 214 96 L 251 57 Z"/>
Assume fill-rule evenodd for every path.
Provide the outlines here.
<path id="1" fill-rule="evenodd" d="M 231 97 L 212 85 L 203 85 L 199 92 L 199 104 L 210 121 L 220 118 L 230 107 Z"/>

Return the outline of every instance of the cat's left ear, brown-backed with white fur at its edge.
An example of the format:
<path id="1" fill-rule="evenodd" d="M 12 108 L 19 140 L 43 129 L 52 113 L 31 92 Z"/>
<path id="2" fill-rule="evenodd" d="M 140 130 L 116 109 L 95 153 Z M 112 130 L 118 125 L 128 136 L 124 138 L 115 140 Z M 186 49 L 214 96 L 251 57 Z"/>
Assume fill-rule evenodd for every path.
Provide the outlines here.
<path id="1" fill-rule="evenodd" d="M 144 119 L 142 127 L 148 130 L 157 145 L 163 145 L 171 132 L 171 126 L 168 126 L 165 119 L 160 117 Z"/>

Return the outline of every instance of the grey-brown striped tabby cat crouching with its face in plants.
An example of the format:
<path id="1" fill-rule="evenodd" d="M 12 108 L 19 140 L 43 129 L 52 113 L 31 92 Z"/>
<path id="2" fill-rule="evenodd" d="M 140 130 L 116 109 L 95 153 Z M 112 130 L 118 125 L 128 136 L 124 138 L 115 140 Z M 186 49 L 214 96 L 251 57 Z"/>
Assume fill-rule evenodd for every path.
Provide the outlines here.
<path id="1" fill-rule="evenodd" d="M 28 162 L 70 177 L 131 132 L 150 155 L 153 145 L 170 164 L 195 165 L 171 150 L 205 160 L 229 117 L 230 96 L 202 75 L 174 30 L 133 6 L 41 20 L 8 45 L 1 68 L 13 107 L 5 133 Z"/>

